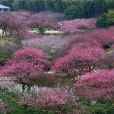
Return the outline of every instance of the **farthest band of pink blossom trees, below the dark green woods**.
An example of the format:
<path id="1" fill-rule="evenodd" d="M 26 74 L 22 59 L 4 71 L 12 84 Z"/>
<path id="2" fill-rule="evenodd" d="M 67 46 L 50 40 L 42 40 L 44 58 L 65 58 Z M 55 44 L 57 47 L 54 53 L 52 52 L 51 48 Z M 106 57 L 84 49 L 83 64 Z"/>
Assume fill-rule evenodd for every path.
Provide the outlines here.
<path id="1" fill-rule="evenodd" d="M 107 30 L 101 29 L 99 31 L 96 29 L 96 19 L 75 19 L 58 22 L 64 19 L 64 15 L 48 12 L 32 14 L 30 12 L 23 11 L 5 14 L 2 13 L 0 15 L 0 28 L 3 30 L 3 34 L 18 32 L 21 36 L 30 37 L 31 35 L 29 31 L 31 28 L 44 26 L 48 28 L 56 28 L 70 34 L 84 33 L 85 31 L 95 30 L 92 34 L 98 34 L 97 36 L 103 37 L 103 39 L 105 37 L 113 37 L 113 27 Z"/>

